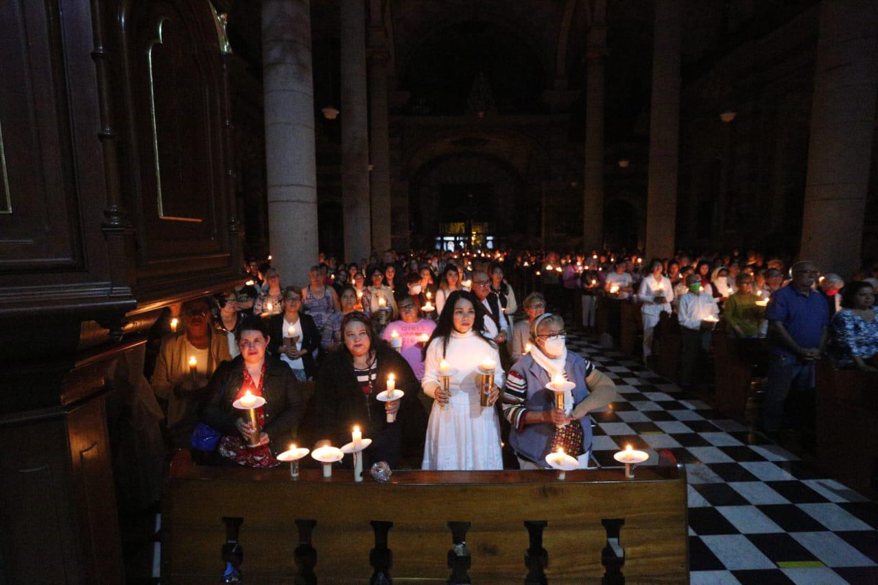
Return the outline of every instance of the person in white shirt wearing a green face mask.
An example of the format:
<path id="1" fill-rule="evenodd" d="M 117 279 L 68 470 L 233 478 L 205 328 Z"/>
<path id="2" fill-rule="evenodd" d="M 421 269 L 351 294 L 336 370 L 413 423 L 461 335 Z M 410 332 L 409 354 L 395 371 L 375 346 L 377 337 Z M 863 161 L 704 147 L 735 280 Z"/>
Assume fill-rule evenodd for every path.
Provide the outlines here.
<path id="1" fill-rule="evenodd" d="M 695 361 L 710 349 L 710 334 L 719 319 L 719 307 L 710 293 L 702 291 L 697 274 L 686 277 L 689 292 L 680 297 L 677 319 L 680 321 L 682 350 L 680 352 L 680 386 L 692 386 Z"/>

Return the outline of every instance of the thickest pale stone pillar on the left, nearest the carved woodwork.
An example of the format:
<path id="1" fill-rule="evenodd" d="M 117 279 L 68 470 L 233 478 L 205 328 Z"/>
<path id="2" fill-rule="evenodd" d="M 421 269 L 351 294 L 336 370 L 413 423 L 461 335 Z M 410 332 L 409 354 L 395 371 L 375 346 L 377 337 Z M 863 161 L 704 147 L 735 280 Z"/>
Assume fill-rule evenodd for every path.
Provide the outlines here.
<path id="1" fill-rule="evenodd" d="M 284 283 L 315 264 L 317 164 L 310 0 L 263 0 L 263 91 L 269 240 Z"/>

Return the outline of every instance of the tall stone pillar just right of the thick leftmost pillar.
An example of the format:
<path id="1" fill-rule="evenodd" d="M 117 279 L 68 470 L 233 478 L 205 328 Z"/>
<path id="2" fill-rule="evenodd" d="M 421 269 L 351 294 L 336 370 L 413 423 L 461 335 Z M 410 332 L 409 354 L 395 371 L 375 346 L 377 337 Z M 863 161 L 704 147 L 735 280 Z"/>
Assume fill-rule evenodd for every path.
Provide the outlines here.
<path id="1" fill-rule="evenodd" d="M 344 257 L 371 252 L 369 112 L 366 109 L 366 4 L 342 2 L 342 222 Z"/>

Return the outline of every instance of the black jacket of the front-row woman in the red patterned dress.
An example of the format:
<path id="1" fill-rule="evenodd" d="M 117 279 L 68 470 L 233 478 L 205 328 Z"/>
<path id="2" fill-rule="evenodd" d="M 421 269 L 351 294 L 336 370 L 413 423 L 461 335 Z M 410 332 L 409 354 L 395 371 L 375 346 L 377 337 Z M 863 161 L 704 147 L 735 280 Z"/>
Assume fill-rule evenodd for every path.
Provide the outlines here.
<path id="1" fill-rule="evenodd" d="M 295 374 L 284 362 L 266 356 L 265 363 L 263 430 L 270 438 L 271 452 L 277 455 L 285 451 L 295 437 L 299 421 L 305 414 L 305 401 L 296 384 Z M 224 435 L 238 435 L 234 423 L 241 418 L 243 411 L 234 408 L 232 402 L 243 383 L 244 360 L 241 356 L 220 364 L 207 385 L 210 399 L 201 412 L 201 422 Z"/>

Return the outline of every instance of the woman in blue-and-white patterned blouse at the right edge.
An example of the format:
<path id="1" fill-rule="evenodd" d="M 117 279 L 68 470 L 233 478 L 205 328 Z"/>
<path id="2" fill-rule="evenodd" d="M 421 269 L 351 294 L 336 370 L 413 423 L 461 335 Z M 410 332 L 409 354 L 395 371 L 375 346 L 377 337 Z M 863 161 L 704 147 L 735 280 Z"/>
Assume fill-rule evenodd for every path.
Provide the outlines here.
<path id="1" fill-rule="evenodd" d="M 841 290 L 842 309 L 832 318 L 830 357 L 839 367 L 878 372 L 878 321 L 874 287 L 855 281 Z"/>

